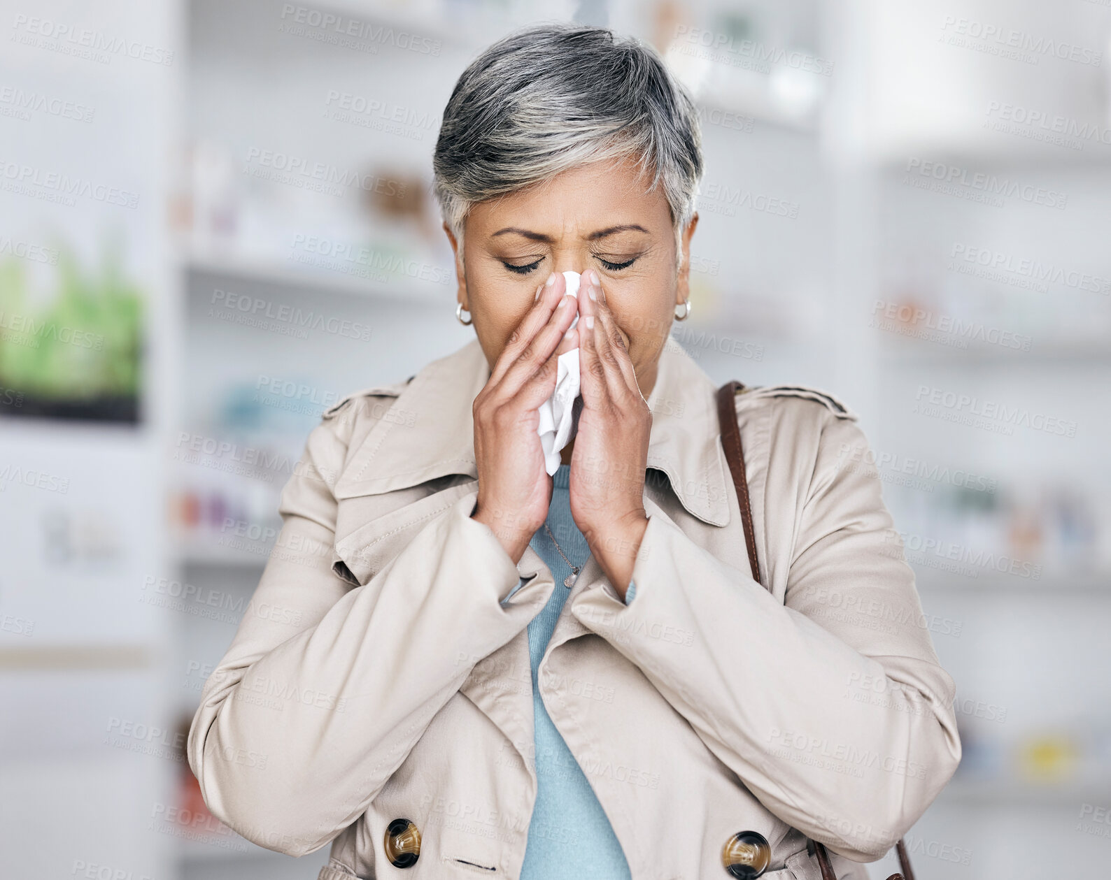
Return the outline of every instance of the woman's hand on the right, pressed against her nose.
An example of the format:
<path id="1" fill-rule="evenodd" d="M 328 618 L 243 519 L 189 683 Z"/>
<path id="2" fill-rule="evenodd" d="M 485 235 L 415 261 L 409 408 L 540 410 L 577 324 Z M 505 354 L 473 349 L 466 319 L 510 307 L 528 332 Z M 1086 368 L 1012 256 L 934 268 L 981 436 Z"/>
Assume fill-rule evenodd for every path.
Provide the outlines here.
<path id="1" fill-rule="evenodd" d="M 571 451 L 571 516 L 623 599 L 648 527 L 644 469 L 652 413 L 598 274 L 588 270 L 581 283 L 574 332 L 582 409 Z"/>

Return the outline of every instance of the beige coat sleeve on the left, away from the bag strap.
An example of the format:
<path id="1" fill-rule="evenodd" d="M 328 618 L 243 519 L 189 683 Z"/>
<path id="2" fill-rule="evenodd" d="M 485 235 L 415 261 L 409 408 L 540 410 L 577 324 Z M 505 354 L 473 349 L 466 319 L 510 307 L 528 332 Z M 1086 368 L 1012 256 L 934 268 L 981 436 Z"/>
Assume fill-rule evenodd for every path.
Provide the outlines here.
<path id="1" fill-rule="evenodd" d="M 536 573 L 470 518 L 477 489 L 364 586 L 340 578 L 337 502 L 322 476 L 344 458 L 337 424 L 313 428 L 282 489 L 277 545 L 187 746 L 212 815 L 290 856 L 319 849 L 367 810 L 474 661 L 523 629 L 550 593 L 541 576 L 508 598 Z"/>

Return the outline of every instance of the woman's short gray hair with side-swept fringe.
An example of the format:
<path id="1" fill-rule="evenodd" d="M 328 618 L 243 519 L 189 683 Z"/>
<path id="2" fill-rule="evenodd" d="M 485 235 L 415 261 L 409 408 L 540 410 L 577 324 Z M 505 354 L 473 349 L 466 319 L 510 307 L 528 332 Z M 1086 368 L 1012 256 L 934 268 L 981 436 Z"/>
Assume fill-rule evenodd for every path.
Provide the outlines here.
<path id="1" fill-rule="evenodd" d="M 580 165 L 634 158 L 662 182 L 682 264 L 682 230 L 702 176 L 694 102 L 650 45 L 577 23 L 522 28 L 456 83 L 436 142 L 433 192 L 460 249 L 471 205 Z"/>

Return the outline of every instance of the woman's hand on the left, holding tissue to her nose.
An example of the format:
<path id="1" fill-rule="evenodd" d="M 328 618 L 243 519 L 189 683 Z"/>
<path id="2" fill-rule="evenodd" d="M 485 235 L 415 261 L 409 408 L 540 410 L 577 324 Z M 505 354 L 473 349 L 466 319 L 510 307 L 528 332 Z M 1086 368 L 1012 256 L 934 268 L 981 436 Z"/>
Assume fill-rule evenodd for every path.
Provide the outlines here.
<path id="1" fill-rule="evenodd" d="M 537 411 L 556 390 L 559 355 L 578 344 L 578 327 L 564 343 L 579 307 L 565 291 L 562 273 L 549 275 L 472 406 L 479 495 L 471 518 L 490 527 L 514 565 L 551 504 Z"/>

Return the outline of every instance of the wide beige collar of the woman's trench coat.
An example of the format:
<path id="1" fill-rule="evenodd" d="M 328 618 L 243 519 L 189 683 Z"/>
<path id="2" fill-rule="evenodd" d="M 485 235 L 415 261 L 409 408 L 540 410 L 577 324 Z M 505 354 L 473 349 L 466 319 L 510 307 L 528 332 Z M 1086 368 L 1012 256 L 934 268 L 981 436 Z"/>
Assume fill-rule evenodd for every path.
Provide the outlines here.
<path id="1" fill-rule="evenodd" d="M 448 474 L 478 478 L 471 405 L 489 377 L 477 338 L 428 364 L 348 459 L 336 497 L 392 492 Z M 730 519 L 729 477 L 714 393 L 710 377 L 669 338 L 648 397 L 648 467 L 667 476 L 690 514 L 724 526 Z M 651 475 L 649 482 L 661 485 Z"/>

